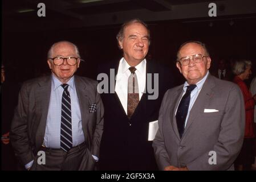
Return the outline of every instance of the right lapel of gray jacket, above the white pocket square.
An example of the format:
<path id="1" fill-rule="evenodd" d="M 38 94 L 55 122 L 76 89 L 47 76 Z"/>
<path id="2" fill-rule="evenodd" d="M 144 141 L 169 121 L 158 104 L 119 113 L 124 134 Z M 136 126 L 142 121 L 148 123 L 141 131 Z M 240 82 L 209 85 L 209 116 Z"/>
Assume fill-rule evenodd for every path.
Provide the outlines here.
<path id="1" fill-rule="evenodd" d="M 196 101 L 189 113 L 188 122 L 186 123 L 184 135 L 186 131 L 188 131 L 189 126 L 193 123 L 193 121 L 197 118 L 198 115 L 202 114 L 203 110 L 205 109 L 206 105 L 208 105 L 210 99 L 214 94 L 212 88 L 214 88 L 215 84 L 212 79 L 212 76 L 209 75 L 206 78 L 204 85 L 202 86 L 201 92 L 198 94 Z"/>

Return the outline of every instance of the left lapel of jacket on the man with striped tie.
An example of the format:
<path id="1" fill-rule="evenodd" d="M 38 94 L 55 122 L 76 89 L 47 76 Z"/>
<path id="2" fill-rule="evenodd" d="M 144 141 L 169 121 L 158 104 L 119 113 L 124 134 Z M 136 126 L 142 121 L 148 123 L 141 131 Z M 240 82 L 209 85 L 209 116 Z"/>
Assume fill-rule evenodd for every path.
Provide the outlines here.
<path id="1" fill-rule="evenodd" d="M 39 104 L 36 109 L 38 109 L 37 113 L 40 113 L 40 119 L 36 119 L 35 122 L 38 122 L 36 123 L 36 126 L 38 126 L 36 143 L 40 146 L 43 143 L 44 133 L 46 130 L 46 119 L 51 95 L 51 77 L 48 77 L 46 81 L 40 81 L 38 85 L 39 86 L 35 91 L 35 103 Z"/>

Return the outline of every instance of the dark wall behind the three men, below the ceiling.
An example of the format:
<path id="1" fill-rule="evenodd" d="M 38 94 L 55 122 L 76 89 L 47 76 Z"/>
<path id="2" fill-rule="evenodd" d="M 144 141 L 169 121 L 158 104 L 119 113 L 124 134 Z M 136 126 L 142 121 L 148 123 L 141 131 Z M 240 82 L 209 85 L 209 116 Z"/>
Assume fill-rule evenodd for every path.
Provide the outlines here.
<path id="1" fill-rule="evenodd" d="M 177 84 L 182 82 L 180 73 L 174 64 L 177 48 L 188 40 L 200 40 L 208 46 L 212 57 L 212 68 L 217 60 L 249 59 L 256 57 L 256 18 L 213 22 L 159 21 L 149 22 L 151 46 L 149 53 L 154 60 L 165 64 L 177 77 Z M 2 32 L 2 61 L 7 76 L 17 82 L 50 73 L 46 62 L 47 51 L 51 44 L 59 40 L 69 40 L 78 45 L 83 62 L 78 70 L 82 76 L 95 78 L 97 65 L 105 61 L 118 61 L 121 51 L 117 47 L 116 34 L 120 25 L 82 28 L 60 27 L 48 31 Z M 255 75 L 256 63 L 253 65 Z"/>

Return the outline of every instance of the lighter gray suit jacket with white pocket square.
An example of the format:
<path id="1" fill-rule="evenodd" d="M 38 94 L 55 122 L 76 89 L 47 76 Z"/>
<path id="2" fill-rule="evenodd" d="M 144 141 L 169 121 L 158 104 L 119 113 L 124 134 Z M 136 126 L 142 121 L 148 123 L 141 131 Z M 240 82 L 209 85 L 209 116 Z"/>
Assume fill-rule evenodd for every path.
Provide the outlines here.
<path id="1" fill-rule="evenodd" d="M 175 111 L 182 88 L 183 85 L 169 89 L 162 100 L 159 131 L 153 141 L 159 169 L 166 166 L 188 167 L 189 170 L 233 169 L 245 130 L 245 106 L 240 89 L 232 82 L 209 75 L 180 138 Z M 205 113 L 204 109 L 218 112 Z M 209 164 L 210 151 L 216 152 L 217 164 Z"/>

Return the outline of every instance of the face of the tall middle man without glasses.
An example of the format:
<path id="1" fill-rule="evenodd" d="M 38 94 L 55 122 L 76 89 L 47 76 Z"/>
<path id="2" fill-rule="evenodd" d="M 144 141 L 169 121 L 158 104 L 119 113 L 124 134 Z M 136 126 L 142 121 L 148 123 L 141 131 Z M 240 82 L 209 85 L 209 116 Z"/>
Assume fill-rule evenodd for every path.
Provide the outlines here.
<path id="1" fill-rule="evenodd" d="M 124 28 L 123 39 L 119 40 L 124 59 L 130 66 L 136 66 L 147 55 L 149 47 L 148 30 L 143 24 L 132 23 Z"/>

